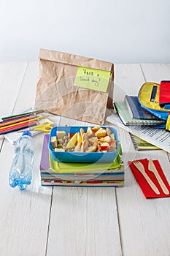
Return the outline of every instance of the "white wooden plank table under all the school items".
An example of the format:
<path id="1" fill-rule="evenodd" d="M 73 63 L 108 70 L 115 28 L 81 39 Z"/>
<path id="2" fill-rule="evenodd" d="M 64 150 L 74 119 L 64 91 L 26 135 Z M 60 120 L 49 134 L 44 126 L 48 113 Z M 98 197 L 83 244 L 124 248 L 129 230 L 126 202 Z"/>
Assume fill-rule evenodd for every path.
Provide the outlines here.
<path id="1" fill-rule="evenodd" d="M 0 64 L 0 116 L 34 106 L 37 62 Z M 136 95 L 145 81 L 170 78 L 170 64 L 115 65 L 115 98 Z M 121 88 L 121 90 L 120 90 Z M 57 118 L 58 125 L 70 124 Z M 72 121 L 72 124 L 80 124 Z M 13 146 L 0 140 L 0 255 L 169 256 L 170 198 L 145 199 L 128 160 L 159 159 L 170 182 L 165 151 L 135 151 L 128 132 L 117 129 L 123 147 L 123 188 L 41 187 L 42 135 L 34 138 L 36 163 L 26 191 L 8 184 Z"/>

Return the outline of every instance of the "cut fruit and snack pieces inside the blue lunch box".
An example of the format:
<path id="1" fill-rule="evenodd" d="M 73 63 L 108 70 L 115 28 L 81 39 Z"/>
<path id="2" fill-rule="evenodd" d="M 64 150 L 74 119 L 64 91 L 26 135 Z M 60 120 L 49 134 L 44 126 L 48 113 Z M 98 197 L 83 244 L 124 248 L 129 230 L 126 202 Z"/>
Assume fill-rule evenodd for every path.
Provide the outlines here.
<path id="1" fill-rule="evenodd" d="M 51 144 L 54 151 L 61 152 L 113 152 L 117 150 L 115 134 L 109 127 L 88 127 L 85 132 L 74 134 L 65 131 L 57 131 L 56 136 L 51 137 Z"/>

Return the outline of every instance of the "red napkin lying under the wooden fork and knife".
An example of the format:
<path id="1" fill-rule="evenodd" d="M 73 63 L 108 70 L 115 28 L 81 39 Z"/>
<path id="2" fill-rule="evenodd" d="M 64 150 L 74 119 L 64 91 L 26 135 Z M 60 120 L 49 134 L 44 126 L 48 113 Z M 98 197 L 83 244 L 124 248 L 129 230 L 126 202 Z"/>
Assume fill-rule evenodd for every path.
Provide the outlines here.
<path id="1" fill-rule="evenodd" d="M 157 181 L 157 178 L 155 177 L 155 174 L 152 173 L 150 170 L 148 170 L 148 159 L 137 159 L 135 161 L 139 161 L 142 162 L 142 165 L 144 165 L 144 170 L 146 171 L 147 175 L 151 178 L 151 180 L 153 181 L 153 183 L 155 184 L 156 187 L 158 187 L 159 191 L 160 191 L 160 195 L 157 195 L 152 188 L 150 187 L 150 185 L 147 183 L 147 181 L 145 180 L 144 176 L 142 175 L 142 173 L 139 172 L 139 170 L 135 167 L 133 161 L 128 161 L 128 165 L 131 167 L 132 173 L 134 173 L 134 176 L 136 178 L 136 181 L 138 182 L 140 188 L 142 189 L 142 192 L 144 193 L 144 196 L 146 198 L 157 198 L 157 197 L 170 197 L 169 195 L 166 195 L 163 193 L 163 190 L 161 189 L 160 184 Z M 156 167 L 156 169 L 158 170 L 159 175 L 161 176 L 163 183 L 166 185 L 167 189 L 169 189 L 170 191 L 170 187 L 169 187 L 169 183 L 166 180 L 166 176 L 163 173 L 163 170 L 161 168 L 161 165 L 159 163 L 158 160 L 153 160 L 153 163 Z"/>

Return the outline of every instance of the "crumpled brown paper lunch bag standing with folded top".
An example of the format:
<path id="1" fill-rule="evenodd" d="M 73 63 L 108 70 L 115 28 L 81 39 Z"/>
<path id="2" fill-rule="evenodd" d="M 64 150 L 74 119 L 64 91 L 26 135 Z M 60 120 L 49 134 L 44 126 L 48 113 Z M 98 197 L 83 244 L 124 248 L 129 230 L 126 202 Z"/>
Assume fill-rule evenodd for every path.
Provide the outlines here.
<path id="1" fill-rule="evenodd" d="M 111 72 L 107 92 L 74 86 L 77 67 Z M 44 109 L 93 124 L 104 124 L 106 112 L 113 108 L 114 65 L 54 50 L 39 50 L 39 78 L 36 84 L 36 109 Z"/>

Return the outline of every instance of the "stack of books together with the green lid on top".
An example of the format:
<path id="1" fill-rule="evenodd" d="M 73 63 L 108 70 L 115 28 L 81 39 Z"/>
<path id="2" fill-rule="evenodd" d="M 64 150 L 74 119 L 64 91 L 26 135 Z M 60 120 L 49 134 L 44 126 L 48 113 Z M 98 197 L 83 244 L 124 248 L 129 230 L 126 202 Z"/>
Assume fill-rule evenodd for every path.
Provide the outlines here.
<path id="1" fill-rule="evenodd" d="M 124 165 L 120 146 L 112 163 L 56 162 L 48 151 L 49 135 L 45 135 L 40 162 L 42 186 L 60 187 L 123 187 Z"/>

